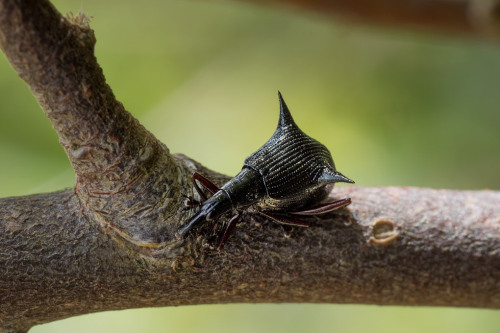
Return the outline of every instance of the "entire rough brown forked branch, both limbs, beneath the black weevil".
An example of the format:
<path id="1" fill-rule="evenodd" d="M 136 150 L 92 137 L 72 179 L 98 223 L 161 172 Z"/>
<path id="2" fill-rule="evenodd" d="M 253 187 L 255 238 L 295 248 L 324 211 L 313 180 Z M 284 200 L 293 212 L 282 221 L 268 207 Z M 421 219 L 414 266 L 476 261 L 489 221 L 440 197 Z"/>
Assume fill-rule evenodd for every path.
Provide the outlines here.
<path id="1" fill-rule="evenodd" d="M 0 332 L 82 313 L 227 302 L 500 307 L 500 193 L 340 188 L 342 211 L 284 230 L 245 215 L 174 236 L 199 171 L 117 102 L 82 15 L 0 0 L 0 47 L 77 175 L 72 189 L 0 199 Z M 224 221 L 225 219 L 221 219 Z"/>

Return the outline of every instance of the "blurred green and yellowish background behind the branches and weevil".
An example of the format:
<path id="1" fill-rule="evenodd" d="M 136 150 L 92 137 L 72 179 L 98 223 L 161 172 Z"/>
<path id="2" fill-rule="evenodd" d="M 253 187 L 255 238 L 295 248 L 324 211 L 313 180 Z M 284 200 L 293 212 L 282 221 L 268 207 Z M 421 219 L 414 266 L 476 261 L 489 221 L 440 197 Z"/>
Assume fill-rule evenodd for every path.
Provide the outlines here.
<path id="1" fill-rule="evenodd" d="M 299 126 L 363 186 L 500 188 L 500 45 L 342 25 L 238 1 L 57 0 L 93 16 L 126 108 L 165 142 L 236 174 L 273 133 L 281 90 Z M 0 196 L 71 187 L 57 136 L 0 56 Z M 214 305 L 99 313 L 42 332 L 499 332 L 500 313 L 361 305 Z"/>

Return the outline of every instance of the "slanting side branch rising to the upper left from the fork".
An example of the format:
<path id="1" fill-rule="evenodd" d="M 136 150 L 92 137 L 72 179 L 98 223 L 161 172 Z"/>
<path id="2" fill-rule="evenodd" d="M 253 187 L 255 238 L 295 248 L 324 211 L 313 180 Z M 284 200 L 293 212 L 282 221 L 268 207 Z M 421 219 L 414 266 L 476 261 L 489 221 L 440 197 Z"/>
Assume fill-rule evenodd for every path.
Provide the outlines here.
<path id="1" fill-rule="evenodd" d="M 162 242 L 176 212 L 150 208 L 179 197 L 185 168 L 115 99 L 94 44 L 83 14 L 67 19 L 47 0 L 0 1 L 0 48 L 58 133 L 83 209 L 126 238 Z"/>

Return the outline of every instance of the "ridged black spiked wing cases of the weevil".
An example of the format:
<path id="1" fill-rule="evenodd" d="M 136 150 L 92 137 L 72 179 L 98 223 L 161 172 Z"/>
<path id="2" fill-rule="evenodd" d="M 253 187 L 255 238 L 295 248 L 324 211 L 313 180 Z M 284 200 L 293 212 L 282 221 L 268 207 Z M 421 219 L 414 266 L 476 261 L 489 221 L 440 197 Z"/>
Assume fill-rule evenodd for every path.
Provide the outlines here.
<path id="1" fill-rule="evenodd" d="M 280 119 L 273 136 L 245 160 L 259 171 L 267 193 L 285 198 L 334 183 L 354 183 L 335 169 L 330 151 L 295 124 L 283 96 L 278 92 Z"/>

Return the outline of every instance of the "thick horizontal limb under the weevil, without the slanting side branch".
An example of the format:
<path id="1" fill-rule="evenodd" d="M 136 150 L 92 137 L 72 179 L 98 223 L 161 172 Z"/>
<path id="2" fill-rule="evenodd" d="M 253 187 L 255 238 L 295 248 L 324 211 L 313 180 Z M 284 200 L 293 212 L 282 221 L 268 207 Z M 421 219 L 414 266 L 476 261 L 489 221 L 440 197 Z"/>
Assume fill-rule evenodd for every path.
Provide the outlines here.
<path id="1" fill-rule="evenodd" d="M 245 216 L 224 252 L 213 234 L 162 248 L 115 242 L 73 190 L 0 200 L 0 327 L 82 313 L 228 302 L 500 308 L 500 193 L 349 187 L 348 210 L 285 237 Z"/>

